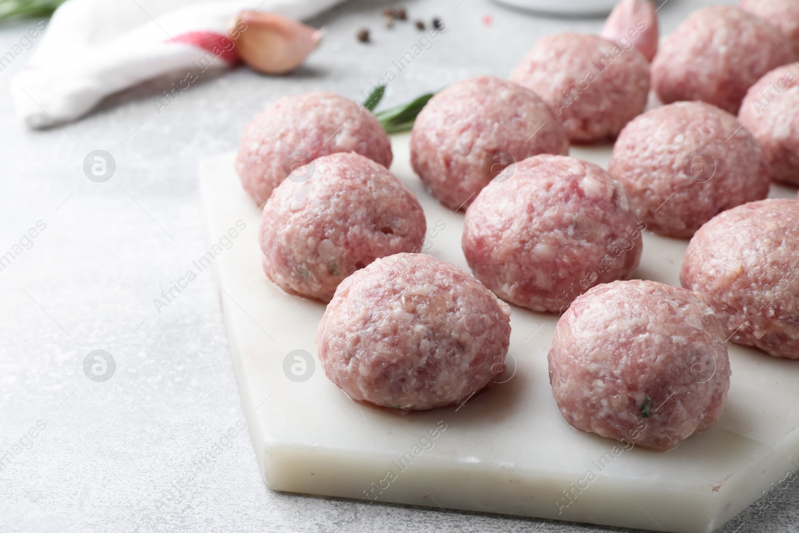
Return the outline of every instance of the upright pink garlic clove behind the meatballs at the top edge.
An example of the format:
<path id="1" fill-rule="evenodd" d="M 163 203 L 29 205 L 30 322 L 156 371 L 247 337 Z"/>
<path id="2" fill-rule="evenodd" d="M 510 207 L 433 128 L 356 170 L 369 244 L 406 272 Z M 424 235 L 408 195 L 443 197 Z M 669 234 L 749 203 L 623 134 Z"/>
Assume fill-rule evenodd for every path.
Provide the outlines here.
<path id="1" fill-rule="evenodd" d="M 650 0 L 622 0 L 610 12 L 600 37 L 618 42 L 622 48 L 632 45 L 652 62 L 658 52 L 658 14 Z"/>

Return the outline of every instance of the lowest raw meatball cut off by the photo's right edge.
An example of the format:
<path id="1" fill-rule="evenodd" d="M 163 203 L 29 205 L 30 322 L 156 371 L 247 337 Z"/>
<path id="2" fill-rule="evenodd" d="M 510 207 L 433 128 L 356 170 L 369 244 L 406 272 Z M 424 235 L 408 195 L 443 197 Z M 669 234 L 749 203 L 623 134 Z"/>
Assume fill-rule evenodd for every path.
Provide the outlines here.
<path id="1" fill-rule="evenodd" d="M 682 286 L 702 292 L 733 342 L 799 359 L 799 201 L 753 201 L 702 226 Z"/>

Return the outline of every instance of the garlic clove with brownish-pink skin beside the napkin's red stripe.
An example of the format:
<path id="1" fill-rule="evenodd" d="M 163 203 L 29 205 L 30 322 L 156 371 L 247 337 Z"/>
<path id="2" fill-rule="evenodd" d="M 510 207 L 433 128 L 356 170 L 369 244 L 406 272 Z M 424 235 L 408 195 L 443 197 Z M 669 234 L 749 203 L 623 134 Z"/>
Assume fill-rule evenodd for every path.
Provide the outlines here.
<path id="1" fill-rule="evenodd" d="M 239 57 L 264 74 L 284 74 L 304 62 L 322 38 L 321 30 L 280 15 L 244 10 L 229 24 Z"/>

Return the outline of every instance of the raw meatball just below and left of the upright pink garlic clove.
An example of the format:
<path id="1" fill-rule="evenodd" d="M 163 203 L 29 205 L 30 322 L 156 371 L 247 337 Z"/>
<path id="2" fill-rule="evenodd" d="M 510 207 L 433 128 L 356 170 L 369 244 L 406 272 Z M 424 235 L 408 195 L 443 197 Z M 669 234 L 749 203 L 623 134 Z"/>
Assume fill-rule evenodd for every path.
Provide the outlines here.
<path id="1" fill-rule="evenodd" d="M 629 40 L 583 34 L 539 40 L 511 74 L 559 115 L 574 142 L 616 137 L 646 107 L 650 65 Z"/>

